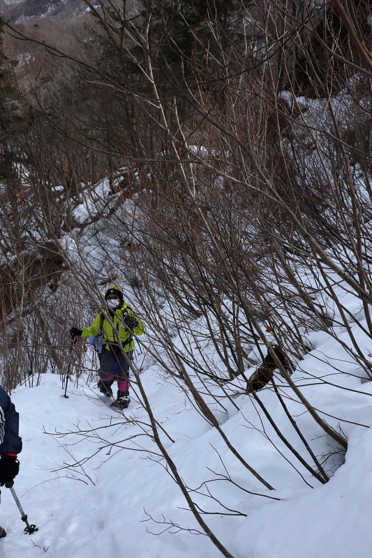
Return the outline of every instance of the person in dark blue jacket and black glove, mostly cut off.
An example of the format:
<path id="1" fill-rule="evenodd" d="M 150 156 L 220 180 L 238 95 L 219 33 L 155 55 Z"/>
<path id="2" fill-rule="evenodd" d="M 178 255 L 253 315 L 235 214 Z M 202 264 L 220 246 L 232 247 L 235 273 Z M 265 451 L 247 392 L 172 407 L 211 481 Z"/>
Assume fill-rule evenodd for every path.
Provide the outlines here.
<path id="1" fill-rule="evenodd" d="M 22 439 L 18 434 L 19 414 L 8 393 L 0 386 L 0 486 L 12 483 L 20 471 L 18 454 L 22 451 Z M 6 531 L 0 527 L 0 538 Z"/>

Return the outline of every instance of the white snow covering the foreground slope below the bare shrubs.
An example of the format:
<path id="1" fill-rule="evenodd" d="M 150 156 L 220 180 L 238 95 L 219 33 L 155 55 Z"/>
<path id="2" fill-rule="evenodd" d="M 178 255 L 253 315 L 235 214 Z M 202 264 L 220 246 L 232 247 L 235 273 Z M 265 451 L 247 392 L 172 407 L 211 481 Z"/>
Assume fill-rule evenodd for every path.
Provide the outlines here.
<path id="1" fill-rule="evenodd" d="M 356 326 L 353 331 L 366 355 L 370 353 L 368 338 L 363 338 Z M 372 430 L 366 427 L 372 424 L 372 382 L 362 383 L 360 370 L 347 362 L 350 359 L 329 335 L 316 333 L 312 342 L 315 349 L 299 363 L 292 378 L 300 386 L 308 384 L 302 387 L 308 400 L 336 417 L 322 415 L 334 426 L 340 423 L 349 441 L 344 465 L 325 485 L 296 462 L 267 421 L 261 422 L 248 395 L 235 399 L 239 411 L 232 402 L 224 401 L 228 414 L 220 413 L 218 419 L 233 446 L 275 491 L 260 485 L 227 450 L 216 429 L 191 407 L 170 377 L 161 374 L 156 365 L 142 372 L 156 420 L 174 440 L 171 442 L 163 433 L 163 443 L 188 488 L 197 489 L 205 481 L 218 479 L 208 484 L 211 493 L 230 508 L 229 513 L 245 514 L 203 516 L 235 558 L 369 558 L 371 555 Z M 323 362 L 325 355 L 328 364 Z M 332 364 L 343 373 L 336 372 Z M 320 378 L 330 384 L 320 382 Z M 0 525 L 8 531 L 8 536 L 0 541 L 0 555 L 6 558 L 220 557 L 207 536 L 175 527 L 165 530 L 169 525 L 163 525 L 163 520 L 184 529 L 198 529 L 198 524 L 191 512 L 184 509 L 187 506 L 179 488 L 162 466 L 164 462 L 156 445 L 144 433 L 144 423 L 148 423 L 144 409 L 133 400 L 125 416 L 114 412 L 98 397 L 95 383 L 86 377 L 80 379 L 79 386 L 70 384 L 69 398 L 65 399 L 59 376 L 49 374 L 42 378 L 40 386 L 20 386 L 13 393 L 24 442 L 15 490 L 29 514 L 29 521 L 36 523 L 39 531 L 32 536 L 23 534 L 19 511 L 10 491 L 3 488 Z M 342 389 L 345 387 L 354 391 Z M 282 389 L 288 395 L 286 404 L 296 415 L 297 424 L 315 454 L 332 451 L 334 442 L 322 436 L 322 430 L 311 416 L 289 398 L 292 394 L 285 384 Z M 308 460 L 275 393 L 265 389 L 259 395 L 281 425 L 283 434 Z M 211 401 L 209 405 L 214 408 Z M 131 422 L 131 418 L 137 423 Z M 104 426 L 107 428 L 103 429 Z M 262 426 L 283 456 L 265 437 L 265 432 L 262 433 Z M 89 437 L 52 435 L 79 429 L 89 431 Z M 131 440 L 122 442 L 128 437 Z M 64 468 L 94 453 L 81 467 Z M 338 465 L 343 456 L 336 454 L 330 458 L 328 470 L 332 468 L 332 460 Z M 241 488 L 223 480 L 224 467 Z M 242 489 L 280 501 L 251 495 Z M 194 494 L 193 498 L 204 510 L 226 512 L 207 497 Z"/>

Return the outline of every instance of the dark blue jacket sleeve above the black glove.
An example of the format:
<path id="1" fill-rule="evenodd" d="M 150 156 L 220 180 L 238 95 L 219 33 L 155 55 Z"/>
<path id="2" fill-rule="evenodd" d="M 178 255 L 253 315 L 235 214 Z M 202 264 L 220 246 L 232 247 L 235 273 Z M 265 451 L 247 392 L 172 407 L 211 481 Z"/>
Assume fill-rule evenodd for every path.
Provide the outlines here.
<path id="1" fill-rule="evenodd" d="M 22 439 L 18 434 L 19 414 L 8 393 L 0 386 L 0 455 L 20 453 Z"/>

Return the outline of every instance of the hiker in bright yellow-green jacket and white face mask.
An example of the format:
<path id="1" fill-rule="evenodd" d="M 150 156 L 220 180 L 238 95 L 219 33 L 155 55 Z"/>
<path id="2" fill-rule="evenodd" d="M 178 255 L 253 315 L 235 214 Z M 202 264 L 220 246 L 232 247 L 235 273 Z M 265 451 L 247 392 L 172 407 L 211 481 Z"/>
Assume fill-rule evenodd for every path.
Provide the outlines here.
<path id="1" fill-rule="evenodd" d="M 99 312 L 90 327 L 78 329 L 72 327 L 70 334 L 72 337 L 80 335 L 81 337 L 91 337 L 91 335 L 103 335 L 103 344 L 105 350 L 102 354 L 100 369 L 98 375 L 100 381 L 98 386 L 102 393 L 112 395 L 111 385 L 113 382 L 112 370 L 117 368 L 118 392 L 115 405 L 121 409 L 125 409 L 129 404 L 129 362 L 132 359 L 133 349 L 135 348 L 135 340 L 133 333 L 139 336 L 144 333 L 144 325 L 133 310 L 129 308 L 128 303 L 124 301 L 123 291 L 118 285 L 110 285 L 105 294 L 105 302 L 107 308 L 105 312 L 110 315 L 114 324 L 110 324 L 102 312 Z M 118 344 L 120 339 L 121 345 L 126 352 L 126 357 L 121 353 Z"/>

